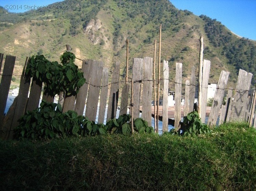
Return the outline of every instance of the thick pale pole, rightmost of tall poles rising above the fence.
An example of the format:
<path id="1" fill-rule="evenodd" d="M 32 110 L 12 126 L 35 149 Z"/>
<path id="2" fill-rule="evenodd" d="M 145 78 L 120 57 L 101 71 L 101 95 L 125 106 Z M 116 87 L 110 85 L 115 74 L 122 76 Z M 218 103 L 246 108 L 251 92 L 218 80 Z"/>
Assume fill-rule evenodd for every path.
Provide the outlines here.
<path id="1" fill-rule="evenodd" d="M 199 70 L 198 70 L 198 101 L 197 111 L 198 115 L 202 117 L 202 75 L 203 75 L 203 36 L 200 37 L 200 53 L 199 53 Z"/>

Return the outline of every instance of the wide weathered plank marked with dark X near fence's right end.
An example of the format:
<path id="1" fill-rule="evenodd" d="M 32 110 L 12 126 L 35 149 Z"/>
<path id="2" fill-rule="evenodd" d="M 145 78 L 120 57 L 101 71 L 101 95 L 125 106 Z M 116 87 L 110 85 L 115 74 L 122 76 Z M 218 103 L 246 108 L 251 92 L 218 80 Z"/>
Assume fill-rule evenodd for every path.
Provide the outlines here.
<path id="1" fill-rule="evenodd" d="M 235 90 L 230 120 L 245 121 L 245 109 L 248 98 L 248 91 L 251 86 L 252 73 L 242 69 L 239 70 L 237 87 Z"/>

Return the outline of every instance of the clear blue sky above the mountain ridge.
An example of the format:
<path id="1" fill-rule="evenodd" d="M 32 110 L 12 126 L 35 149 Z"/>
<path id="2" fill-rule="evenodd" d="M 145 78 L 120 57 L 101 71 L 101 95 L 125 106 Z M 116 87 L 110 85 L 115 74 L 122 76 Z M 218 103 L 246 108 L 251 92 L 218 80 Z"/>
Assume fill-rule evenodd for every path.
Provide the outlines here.
<path id="1" fill-rule="evenodd" d="M 0 6 L 18 5 L 10 12 L 25 12 L 25 5 L 43 6 L 58 0 L 0 0 Z M 60 0 L 59 0 L 60 1 Z M 256 0 L 170 0 L 181 10 L 188 10 L 195 15 L 207 15 L 222 22 L 228 29 L 239 36 L 256 40 Z M 14 7 L 14 6 L 13 6 Z"/>

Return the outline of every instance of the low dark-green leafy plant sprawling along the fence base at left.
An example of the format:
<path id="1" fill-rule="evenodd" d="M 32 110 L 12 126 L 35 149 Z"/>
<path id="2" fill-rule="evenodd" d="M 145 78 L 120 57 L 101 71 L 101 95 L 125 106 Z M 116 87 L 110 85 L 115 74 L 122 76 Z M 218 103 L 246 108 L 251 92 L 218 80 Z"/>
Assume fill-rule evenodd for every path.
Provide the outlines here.
<path id="1" fill-rule="evenodd" d="M 105 134 L 131 134 L 131 116 L 124 114 L 118 119 L 109 120 L 106 125 L 96 124 L 87 117 L 77 116 L 75 111 L 62 113 L 60 104 L 47 103 L 42 100 L 40 108 L 28 111 L 19 120 L 15 128 L 15 137 L 26 139 L 44 139 L 68 136 L 95 136 Z M 134 121 L 137 133 L 154 133 L 153 127 L 141 118 Z"/>

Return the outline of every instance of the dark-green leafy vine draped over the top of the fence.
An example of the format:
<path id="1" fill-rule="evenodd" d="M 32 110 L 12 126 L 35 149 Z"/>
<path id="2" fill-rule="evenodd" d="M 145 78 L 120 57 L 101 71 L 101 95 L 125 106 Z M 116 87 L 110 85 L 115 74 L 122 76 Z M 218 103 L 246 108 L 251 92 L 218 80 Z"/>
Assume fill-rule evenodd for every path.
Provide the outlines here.
<path id="1" fill-rule="evenodd" d="M 75 55 L 65 52 L 60 57 L 61 64 L 49 62 L 44 55 L 32 56 L 28 61 L 26 75 L 45 85 L 49 95 L 65 91 L 66 95 L 76 94 L 85 83 L 83 72 L 74 64 Z"/>

